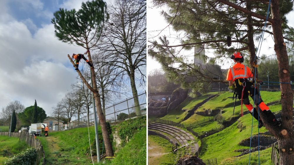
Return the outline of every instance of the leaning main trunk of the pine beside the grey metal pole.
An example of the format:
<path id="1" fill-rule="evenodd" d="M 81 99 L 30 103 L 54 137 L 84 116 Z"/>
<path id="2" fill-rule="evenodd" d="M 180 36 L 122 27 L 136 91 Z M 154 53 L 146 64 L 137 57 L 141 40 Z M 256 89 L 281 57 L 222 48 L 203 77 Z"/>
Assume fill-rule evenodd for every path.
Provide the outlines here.
<path id="1" fill-rule="evenodd" d="M 89 59 L 90 63 L 93 63 L 88 44 L 86 44 L 86 47 L 87 47 L 87 52 L 88 52 L 88 59 Z M 96 103 L 97 115 L 99 117 L 99 121 L 100 121 L 100 125 L 101 125 L 101 131 L 102 131 L 102 135 L 103 135 L 106 156 L 112 157 L 113 156 L 113 149 L 111 146 L 111 142 L 110 142 L 107 126 L 106 126 L 106 119 L 105 119 L 105 116 L 102 111 L 99 91 L 97 90 L 97 83 L 96 83 L 96 76 L 95 76 L 94 67 L 91 67 L 91 76 L 92 76 L 93 89 L 95 91 L 95 92 L 93 92 L 93 94 L 94 94 L 94 99 L 95 99 L 95 103 Z"/>

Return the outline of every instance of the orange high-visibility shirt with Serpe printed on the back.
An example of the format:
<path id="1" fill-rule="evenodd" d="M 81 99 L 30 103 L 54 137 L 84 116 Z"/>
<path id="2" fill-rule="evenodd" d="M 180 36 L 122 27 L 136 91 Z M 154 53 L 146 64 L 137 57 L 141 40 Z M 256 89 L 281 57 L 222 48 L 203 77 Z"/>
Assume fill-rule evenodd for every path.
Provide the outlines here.
<path id="1" fill-rule="evenodd" d="M 235 81 L 236 79 L 239 79 L 239 78 L 249 78 L 249 76 L 253 77 L 253 75 L 251 75 L 250 68 L 241 63 L 236 63 L 234 66 L 229 68 L 227 80 Z"/>

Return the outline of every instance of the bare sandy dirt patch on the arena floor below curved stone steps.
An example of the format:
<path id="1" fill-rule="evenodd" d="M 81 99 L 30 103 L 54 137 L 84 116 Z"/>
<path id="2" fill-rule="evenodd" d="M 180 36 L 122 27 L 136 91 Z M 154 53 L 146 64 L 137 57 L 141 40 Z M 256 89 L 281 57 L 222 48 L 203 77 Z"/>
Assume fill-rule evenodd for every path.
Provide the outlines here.
<path id="1" fill-rule="evenodd" d="M 161 146 L 148 139 L 148 164 L 160 164 L 161 156 L 168 153 L 170 152 L 165 152 Z"/>

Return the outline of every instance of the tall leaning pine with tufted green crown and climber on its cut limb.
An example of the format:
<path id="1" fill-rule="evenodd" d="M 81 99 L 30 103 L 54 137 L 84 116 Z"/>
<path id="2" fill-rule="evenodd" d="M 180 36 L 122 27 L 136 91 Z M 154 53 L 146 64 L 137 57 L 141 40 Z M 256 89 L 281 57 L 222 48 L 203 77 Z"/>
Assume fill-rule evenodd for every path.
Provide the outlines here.
<path id="1" fill-rule="evenodd" d="M 106 3 L 103 0 L 94 0 L 83 2 L 81 9 L 66 10 L 59 9 L 54 13 L 52 23 L 55 28 L 55 36 L 62 42 L 69 44 L 76 44 L 86 49 L 88 60 L 92 62 L 90 49 L 93 48 L 99 41 L 104 22 L 107 20 Z M 68 55 L 69 60 L 75 66 L 74 61 Z M 86 84 L 86 86 L 93 92 L 95 99 L 97 114 L 101 123 L 101 131 L 103 135 L 106 156 L 113 156 L 113 149 L 106 127 L 106 119 L 102 111 L 100 102 L 100 94 L 96 83 L 96 73 L 94 66 L 90 67 L 92 85 L 91 86 L 77 70 L 78 75 Z"/>

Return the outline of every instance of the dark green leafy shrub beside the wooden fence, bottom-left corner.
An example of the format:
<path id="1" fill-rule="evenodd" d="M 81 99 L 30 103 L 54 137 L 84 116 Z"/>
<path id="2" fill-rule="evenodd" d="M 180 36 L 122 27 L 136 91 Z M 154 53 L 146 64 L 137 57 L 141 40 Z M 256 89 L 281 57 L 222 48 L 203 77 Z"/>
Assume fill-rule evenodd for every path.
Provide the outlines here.
<path id="1" fill-rule="evenodd" d="M 29 148 L 17 154 L 16 156 L 12 157 L 11 159 L 6 160 L 4 164 L 6 165 L 15 165 L 15 164 L 35 165 L 37 156 L 38 154 L 36 149 Z"/>

